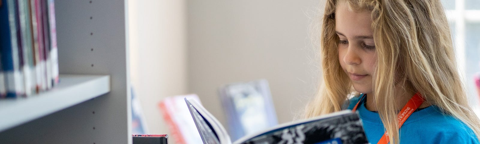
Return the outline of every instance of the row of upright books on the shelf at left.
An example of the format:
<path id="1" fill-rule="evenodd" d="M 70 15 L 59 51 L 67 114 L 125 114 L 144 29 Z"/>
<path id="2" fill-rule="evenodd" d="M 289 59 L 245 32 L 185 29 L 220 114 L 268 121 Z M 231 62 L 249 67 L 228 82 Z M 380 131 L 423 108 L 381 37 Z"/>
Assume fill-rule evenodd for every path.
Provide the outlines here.
<path id="1" fill-rule="evenodd" d="M 54 0 L 1 0 L 0 29 L 1 98 L 59 83 Z"/>

